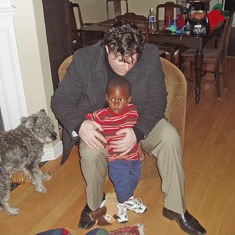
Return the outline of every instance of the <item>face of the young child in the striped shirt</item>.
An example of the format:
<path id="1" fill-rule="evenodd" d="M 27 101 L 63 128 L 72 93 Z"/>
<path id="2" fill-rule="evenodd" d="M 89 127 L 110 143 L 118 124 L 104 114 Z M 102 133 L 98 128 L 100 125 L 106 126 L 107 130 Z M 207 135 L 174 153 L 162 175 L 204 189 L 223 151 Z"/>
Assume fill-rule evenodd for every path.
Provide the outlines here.
<path id="1" fill-rule="evenodd" d="M 106 94 L 109 108 L 114 114 L 122 113 L 125 107 L 131 102 L 131 98 L 128 89 L 122 87 L 111 87 L 108 94 Z"/>

